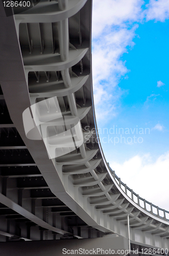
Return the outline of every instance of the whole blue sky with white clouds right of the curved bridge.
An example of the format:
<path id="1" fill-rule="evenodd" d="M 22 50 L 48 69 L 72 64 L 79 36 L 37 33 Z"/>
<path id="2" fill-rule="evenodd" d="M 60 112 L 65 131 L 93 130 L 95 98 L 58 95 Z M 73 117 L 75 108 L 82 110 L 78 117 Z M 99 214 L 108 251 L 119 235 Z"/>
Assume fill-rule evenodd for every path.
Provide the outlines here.
<path id="1" fill-rule="evenodd" d="M 169 0 L 93 0 L 92 29 L 106 160 L 141 197 L 169 210 Z"/>

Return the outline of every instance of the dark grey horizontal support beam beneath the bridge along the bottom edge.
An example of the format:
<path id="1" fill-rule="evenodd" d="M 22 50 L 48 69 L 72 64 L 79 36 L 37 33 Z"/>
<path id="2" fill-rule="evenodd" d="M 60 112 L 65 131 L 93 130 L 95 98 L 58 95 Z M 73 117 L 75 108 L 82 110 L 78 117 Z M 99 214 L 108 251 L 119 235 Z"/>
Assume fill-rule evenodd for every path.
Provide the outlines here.
<path id="1" fill-rule="evenodd" d="M 12 242 L 10 246 L 8 243 L 1 244 L 1 256 L 63 256 L 70 254 L 71 250 L 75 251 L 74 255 L 82 256 L 88 255 L 88 251 L 91 252 L 89 255 L 95 255 L 97 252 L 98 256 L 109 256 L 121 251 L 118 255 L 122 256 L 127 254 L 129 245 L 128 239 L 123 237 Z"/>

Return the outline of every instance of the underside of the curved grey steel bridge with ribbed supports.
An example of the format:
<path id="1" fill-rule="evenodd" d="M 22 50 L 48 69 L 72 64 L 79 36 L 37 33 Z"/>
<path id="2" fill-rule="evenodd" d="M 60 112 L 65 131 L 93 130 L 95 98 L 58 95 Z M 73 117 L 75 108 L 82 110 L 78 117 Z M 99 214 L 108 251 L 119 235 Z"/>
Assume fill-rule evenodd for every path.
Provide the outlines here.
<path id="1" fill-rule="evenodd" d="M 139 251 L 168 248 L 169 212 L 121 182 L 93 132 L 92 1 L 34 4 L 7 17 L 0 3 L 0 241 L 108 233 L 126 249 L 128 239 Z M 38 118 L 34 139 L 25 135 L 26 109 L 28 126 L 34 110 Z"/>

